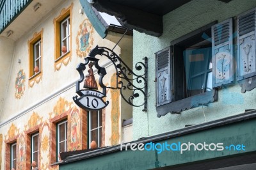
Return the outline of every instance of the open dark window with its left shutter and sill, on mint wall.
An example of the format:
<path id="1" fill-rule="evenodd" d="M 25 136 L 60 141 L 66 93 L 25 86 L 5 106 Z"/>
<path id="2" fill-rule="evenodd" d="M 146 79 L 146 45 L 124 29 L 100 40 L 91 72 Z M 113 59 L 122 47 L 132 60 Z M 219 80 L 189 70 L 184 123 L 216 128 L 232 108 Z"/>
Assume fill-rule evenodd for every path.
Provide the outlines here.
<path id="1" fill-rule="evenodd" d="M 212 27 L 218 26 L 214 24 L 215 22 L 210 23 L 184 35 L 174 40 L 172 46 L 156 52 L 157 116 L 164 116 L 168 112 L 179 113 L 214 102 L 216 91 L 212 89 L 221 86 L 225 80 L 230 82 L 228 76 L 222 79 L 213 74 L 216 70 L 221 70 L 219 66 L 215 66 L 214 62 L 217 60 L 212 56 L 215 55 L 211 41 Z M 229 45 L 228 41 L 232 41 L 230 32 L 225 35 Z M 222 41 L 223 37 L 221 38 L 219 39 Z M 222 42 L 219 44 L 218 48 L 222 48 Z M 226 69 L 230 70 L 230 65 Z"/>

